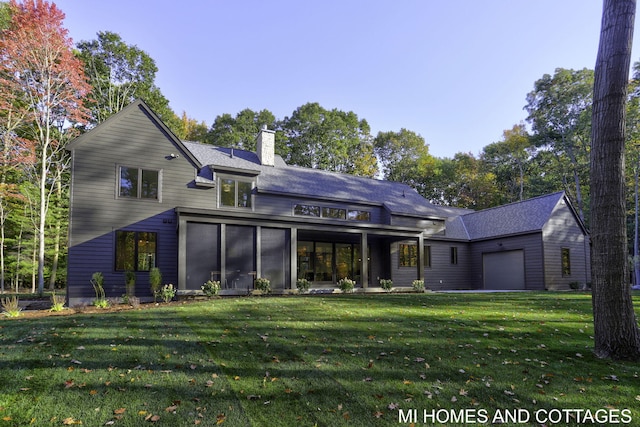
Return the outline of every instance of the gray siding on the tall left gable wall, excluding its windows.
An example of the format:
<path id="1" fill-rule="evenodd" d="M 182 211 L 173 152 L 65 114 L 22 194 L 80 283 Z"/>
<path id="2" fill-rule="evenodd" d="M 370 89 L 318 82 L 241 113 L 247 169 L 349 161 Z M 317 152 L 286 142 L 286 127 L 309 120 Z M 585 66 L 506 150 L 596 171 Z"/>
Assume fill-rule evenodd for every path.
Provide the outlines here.
<path id="1" fill-rule="evenodd" d="M 214 193 L 193 188 L 196 168 L 141 108 L 105 122 L 90 139 L 72 145 L 72 200 L 68 289 L 70 298 L 92 298 L 93 272 L 105 276 L 108 297 L 124 293 L 116 272 L 115 231 L 158 233 L 157 266 L 165 283 L 177 283 L 176 206 L 212 208 Z M 89 135 L 87 135 L 89 136 Z M 178 158 L 171 159 L 171 153 Z M 117 198 L 118 165 L 161 171 L 161 201 Z M 150 296 L 148 273 L 138 273 L 138 296 Z"/>

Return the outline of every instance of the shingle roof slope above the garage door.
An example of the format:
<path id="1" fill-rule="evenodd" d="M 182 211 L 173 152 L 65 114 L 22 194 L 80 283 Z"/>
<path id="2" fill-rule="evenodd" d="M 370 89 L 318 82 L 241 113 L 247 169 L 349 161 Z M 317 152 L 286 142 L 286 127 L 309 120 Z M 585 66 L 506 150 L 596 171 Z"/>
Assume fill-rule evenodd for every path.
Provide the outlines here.
<path id="1" fill-rule="evenodd" d="M 542 230 L 564 192 L 502 205 L 461 217 L 469 239 L 525 234 Z"/>

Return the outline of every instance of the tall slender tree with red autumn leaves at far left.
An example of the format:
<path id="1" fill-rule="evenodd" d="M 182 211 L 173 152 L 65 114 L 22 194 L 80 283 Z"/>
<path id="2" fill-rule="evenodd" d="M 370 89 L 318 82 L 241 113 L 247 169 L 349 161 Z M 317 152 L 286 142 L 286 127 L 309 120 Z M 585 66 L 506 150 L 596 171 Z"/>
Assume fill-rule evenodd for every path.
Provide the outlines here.
<path id="1" fill-rule="evenodd" d="M 2 90 L 25 114 L 24 136 L 37 143 L 38 291 L 44 291 L 45 231 L 56 163 L 63 164 L 64 143 L 77 133 L 70 123 L 84 123 L 88 94 L 82 63 L 62 27 L 64 13 L 44 0 L 11 0 L 11 23 L 0 40 Z M 0 98 L 2 98 L 0 96 Z"/>

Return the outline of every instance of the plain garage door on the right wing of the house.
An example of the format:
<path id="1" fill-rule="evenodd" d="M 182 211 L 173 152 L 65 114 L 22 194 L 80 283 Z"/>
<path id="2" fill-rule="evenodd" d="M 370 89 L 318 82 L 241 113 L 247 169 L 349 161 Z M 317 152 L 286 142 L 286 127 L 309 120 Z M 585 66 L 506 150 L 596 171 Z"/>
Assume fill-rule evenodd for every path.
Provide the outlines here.
<path id="1" fill-rule="evenodd" d="M 482 265 L 485 289 L 524 289 L 523 250 L 483 254 Z"/>

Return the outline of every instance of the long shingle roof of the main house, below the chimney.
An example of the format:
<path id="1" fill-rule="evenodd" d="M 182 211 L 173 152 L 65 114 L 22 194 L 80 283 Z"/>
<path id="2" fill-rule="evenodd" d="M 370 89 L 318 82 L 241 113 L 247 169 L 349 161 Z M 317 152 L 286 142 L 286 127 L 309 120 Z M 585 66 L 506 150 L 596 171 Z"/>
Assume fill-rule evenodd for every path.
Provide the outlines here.
<path id="1" fill-rule="evenodd" d="M 263 166 L 250 151 L 233 150 L 196 142 L 185 147 L 203 165 L 259 172 L 258 192 L 292 194 L 300 197 L 341 200 L 385 206 L 390 212 L 422 217 L 446 218 L 453 212 L 469 212 L 429 203 L 406 184 L 319 169 L 288 166 L 276 156 L 276 166 Z"/>

